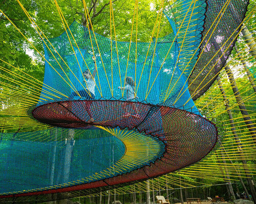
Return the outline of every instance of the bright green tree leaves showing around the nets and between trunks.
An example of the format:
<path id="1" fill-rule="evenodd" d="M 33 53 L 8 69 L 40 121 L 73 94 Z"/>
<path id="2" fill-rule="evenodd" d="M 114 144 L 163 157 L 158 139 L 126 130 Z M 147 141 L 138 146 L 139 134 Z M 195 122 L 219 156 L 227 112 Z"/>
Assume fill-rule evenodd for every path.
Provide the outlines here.
<path id="1" fill-rule="evenodd" d="M 62 24 L 54 1 L 52 0 L 23 0 L 21 1 L 25 9 L 31 15 L 31 17 L 35 20 L 38 27 L 42 32 L 47 36 L 47 38 L 53 38 L 59 36 L 61 33 L 65 32 L 65 28 L 67 25 Z M 109 1 L 107 0 L 99 0 L 94 5 L 94 9 L 91 10 L 90 17 L 92 19 L 92 24 L 94 31 L 100 35 L 103 35 L 108 38 L 116 39 L 118 41 L 130 41 L 131 38 L 131 29 L 134 15 L 134 7 L 135 1 L 126 0 L 126 1 L 112 1 L 113 2 L 113 10 L 114 10 L 114 20 L 115 20 L 115 32 L 114 33 L 114 25 L 112 22 L 112 36 L 110 30 L 110 6 Z M 249 11 L 253 8 L 254 1 L 251 1 L 251 5 L 249 6 Z M 92 1 L 86 1 L 87 7 L 89 10 L 93 6 Z M 68 25 L 70 25 L 74 19 L 86 25 L 86 20 L 84 19 L 84 10 L 82 1 L 77 0 L 59 0 L 58 5 L 67 20 Z M 152 5 L 154 8 L 152 8 Z M 167 5 L 167 2 L 164 3 L 164 7 Z M 103 8 L 103 9 L 102 9 Z M 157 10 L 160 8 L 160 1 L 149 1 L 143 0 L 139 1 L 138 6 L 138 19 L 135 15 L 135 22 L 133 27 L 133 35 L 132 41 L 135 42 L 136 39 L 138 42 L 150 42 L 152 31 L 154 30 Z M 35 46 L 35 48 L 44 56 L 44 47 L 41 38 L 39 37 L 36 30 L 31 25 L 28 17 L 25 15 L 24 11 L 18 3 L 14 0 L 10 1 L 2 1 L 0 3 L 0 9 L 8 16 L 8 18 L 15 24 L 15 26 L 22 32 Z M 101 10 L 102 9 L 102 10 Z M 252 32 L 252 35 L 255 37 L 255 16 L 253 16 L 248 22 L 248 29 Z M 158 24 L 157 24 L 158 25 Z M 137 32 L 136 32 L 137 26 Z M 23 91 L 24 94 L 33 93 L 35 97 L 35 101 L 37 101 L 40 93 L 39 88 L 35 86 L 31 86 L 31 82 L 27 79 L 30 79 L 32 82 L 37 82 L 35 79 L 40 82 L 43 81 L 44 77 L 44 58 L 42 58 L 35 48 L 28 43 L 28 41 L 20 34 L 14 26 L 10 23 L 10 21 L 0 13 L 0 59 L 6 61 L 10 65 L 18 68 L 15 69 L 12 66 L 7 65 L 6 63 L 0 61 L 0 98 L 2 103 L 2 110 L 0 110 L 0 122 L 5 122 L 5 126 L 1 127 L 0 132 L 16 132 L 19 129 L 20 124 L 17 123 L 18 118 L 22 114 L 22 110 L 19 110 L 20 105 L 19 101 L 13 100 L 11 97 L 6 97 L 6 92 L 11 93 L 9 95 L 15 95 L 18 91 Z M 172 32 L 169 23 L 165 16 L 162 16 L 161 24 L 159 27 L 159 35 L 158 37 L 163 37 Z M 157 36 L 158 27 L 155 29 L 155 33 L 153 37 Z M 136 37 L 137 34 L 137 37 Z M 44 36 L 43 36 L 44 37 Z M 89 40 L 89 39 L 88 39 Z M 79 42 L 78 42 L 79 43 Z M 237 42 L 238 49 L 241 50 L 241 55 L 243 59 L 248 62 L 247 65 L 249 67 L 254 66 L 253 59 L 250 55 L 247 55 L 248 45 L 244 42 L 242 37 L 238 38 Z M 31 54 L 28 53 L 28 49 L 31 49 L 33 52 L 33 58 Z M 234 50 L 230 55 L 229 65 L 232 67 L 241 66 L 241 62 L 236 58 L 236 53 Z M 239 69 L 239 68 L 237 68 Z M 14 77 L 12 72 L 18 73 L 19 78 L 17 76 Z M 33 78 L 28 77 L 25 73 L 31 75 Z M 241 91 L 242 96 L 244 98 L 249 97 L 253 94 L 253 90 L 248 83 L 248 79 L 244 73 L 241 73 L 242 77 L 237 79 L 237 85 L 239 90 Z M 240 74 L 240 75 L 241 75 Z M 6 77 L 3 78 L 2 76 Z M 240 122 L 241 125 L 245 125 L 243 119 L 241 118 L 241 113 L 239 111 L 239 107 L 236 105 L 236 98 L 233 96 L 232 89 L 230 88 L 229 81 L 227 77 L 225 77 L 225 73 L 222 73 L 222 85 L 226 91 L 226 94 L 229 95 L 230 105 L 233 106 L 232 113 L 236 119 L 236 122 Z M 15 81 L 20 83 L 16 83 Z M 8 86 L 9 85 L 9 86 Z M 248 90 L 248 91 L 247 91 Z M 210 92 L 210 94 L 209 94 Z M 166 93 L 162 93 L 165 96 Z M 216 97 L 219 97 L 217 100 Z M 255 97 L 254 97 L 255 98 Z M 26 100 L 26 99 L 25 99 Z M 212 102 L 209 102 L 211 101 Z M 31 104 L 33 104 L 31 102 Z M 255 106 L 252 106 L 251 100 L 245 101 L 246 108 L 251 112 L 255 112 Z M 18 110 L 15 116 L 11 116 L 12 118 L 8 118 L 7 114 L 13 107 L 15 110 Z M 28 104 L 29 107 L 29 104 Z M 197 107 L 201 110 L 201 114 L 210 118 L 214 118 L 214 122 L 225 121 L 223 127 L 226 129 L 230 129 L 230 124 L 228 124 L 228 115 L 225 112 L 225 106 L 223 103 L 223 99 L 221 96 L 220 89 L 218 88 L 218 84 L 213 85 L 205 96 L 202 96 L 197 100 Z M 217 107 L 217 108 L 216 108 Z M 214 111 L 211 111 L 213 110 Z M 240 117 L 240 118 L 239 118 Z M 252 119 L 256 120 L 256 116 L 252 116 Z M 22 131 L 22 130 L 21 130 Z M 225 131 L 225 130 L 224 130 Z M 248 130 L 245 128 L 241 128 L 239 130 L 240 136 L 249 138 Z M 226 133 L 228 134 L 228 133 Z M 230 143 L 233 142 L 233 139 L 230 138 L 227 141 Z M 232 146 L 230 144 L 230 146 Z M 215 162 L 217 163 L 217 158 L 214 158 L 209 163 Z M 236 161 L 237 163 L 241 163 L 241 161 Z M 251 161 L 253 163 L 253 161 Z M 255 163 L 255 162 L 254 162 Z M 222 181 L 214 180 L 214 179 L 195 179 L 194 177 L 189 177 L 187 175 L 183 175 L 182 173 L 178 173 L 174 175 L 179 178 L 187 180 L 193 184 L 193 182 L 200 182 L 203 184 L 217 184 Z M 218 176 L 216 176 L 218 177 Z"/>

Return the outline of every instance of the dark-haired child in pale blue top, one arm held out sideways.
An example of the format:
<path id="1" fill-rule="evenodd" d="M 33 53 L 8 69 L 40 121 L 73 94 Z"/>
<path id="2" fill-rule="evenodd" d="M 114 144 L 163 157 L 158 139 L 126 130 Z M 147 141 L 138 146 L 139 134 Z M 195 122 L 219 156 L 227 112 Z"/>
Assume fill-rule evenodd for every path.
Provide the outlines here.
<path id="1" fill-rule="evenodd" d="M 118 87 L 119 89 L 125 90 L 126 91 L 126 99 L 127 100 L 133 100 L 135 98 L 138 98 L 137 96 L 135 97 L 135 82 L 133 80 L 132 77 L 126 77 L 125 79 L 125 86 L 124 87 Z M 131 109 L 131 111 L 130 111 Z M 132 104 L 132 107 L 130 107 L 129 109 L 126 108 L 125 110 L 126 114 L 123 115 L 124 117 L 129 117 L 129 116 L 133 116 L 136 118 L 139 118 L 139 114 L 138 114 L 138 107 L 135 103 Z M 130 112 L 135 112 L 136 114 L 131 115 Z"/>

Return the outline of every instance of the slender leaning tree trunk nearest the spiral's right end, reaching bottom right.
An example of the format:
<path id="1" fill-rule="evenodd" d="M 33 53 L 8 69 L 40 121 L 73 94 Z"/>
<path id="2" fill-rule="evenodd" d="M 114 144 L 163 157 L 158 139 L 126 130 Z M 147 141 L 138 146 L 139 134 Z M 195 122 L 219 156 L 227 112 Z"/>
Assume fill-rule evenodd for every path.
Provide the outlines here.
<path id="1" fill-rule="evenodd" d="M 253 185 L 252 179 L 248 177 L 250 175 L 250 172 L 247 169 L 247 162 L 246 162 L 244 154 L 243 154 L 243 148 L 242 148 L 242 146 L 240 146 L 241 140 L 238 137 L 237 131 L 236 131 L 236 127 L 234 126 L 234 120 L 233 120 L 233 115 L 232 115 L 231 110 L 230 110 L 229 100 L 227 99 L 226 93 L 225 93 L 225 91 L 224 91 L 224 89 L 222 87 L 222 84 L 221 84 L 221 81 L 220 81 L 220 77 L 217 77 L 217 81 L 218 81 L 218 84 L 219 84 L 219 87 L 220 87 L 220 91 L 221 91 L 221 94 L 223 96 L 224 104 L 225 104 L 225 107 L 226 107 L 226 110 L 227 110 L 227 113 L 228 113 L 228 117 L 229 117 L 229 121 L 230 121 L 230 125 L 231 125 L 231 131 L 232 131 L 232 134 L 233 134 L 233 137 L 234 137 L 234 141 L 238 144 L 238 146 L 239 146 L 238 147 L 238 152 L 239 152 L 240 156 L 243 158 L 242 159 L 242 163 L 244 164 L 244 170 L 245 170 L 245 173 L 247 175 L 247 181 L 248 181 L 251 193 L 252 193 L 252 199 L 253 199 L 254 203 L 256 203 L 255 187 Z M 245 186 L 244 186 L 244 188 L 245 188 Z M 249 197 L 249 199 L 250 199 L 250 197 Z"/>

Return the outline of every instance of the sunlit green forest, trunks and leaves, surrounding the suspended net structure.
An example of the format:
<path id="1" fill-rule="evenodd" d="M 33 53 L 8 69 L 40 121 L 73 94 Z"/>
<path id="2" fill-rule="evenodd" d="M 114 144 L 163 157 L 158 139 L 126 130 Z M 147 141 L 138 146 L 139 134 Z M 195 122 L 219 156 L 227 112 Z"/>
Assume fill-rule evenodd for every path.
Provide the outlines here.
<path id="1" fill-rule="evenodd" d="M 54 1 L 33 0 L 21 2 L 48 38 L 59 36 L 65 31 Z M 94 31 L 102 36 L 110 38 L 110 2 L 105 0 L 91 0 L 86 1 L 86 3 L 89 8 Z M 152 36 L 152 30 L 154 28 L 157 12 L 160 8 L 160 3 L 160 1 L 151 0 L 143 0 L 139 2 L 138 23 L 136 24 L 137 31 L 134 29 L 132 41 L 149 42 L 151 37 L 156 37 L 156 34 Z M 115 17 L 116 39 L 118 41 L 130 41 L 135 1 L 113 0 L 112 4 Z M 172 2 L 165 2 L 164 6 L 170 4 L 172 4 Z M 68 24 L 71 24 L 76 20 L 84 26 L 87 26 L 82 1 L 59 0 L 58 5 Z M 253 5 L 255 5 L 255 1 L 250 2 L 249 9 L 252 8 Z M 0 9 L 3 10 L 15 26 L 26 35 L 31 42 L 33 42 L 35 48 L 40 53 L 44 53 L 42 40 L 33 26 L 31 26 L 29 19 L 22 8 L 20 8 L 19 4 L 16 1 L 2 0 L 0 2 Z M 29 82 L 17 84 L 14 80 L 10 80 L 13 79 L 13 75 L 11 72 L 6 72 L 4 68 L 13 72 L 15 72 L 15 68 L 6 66 L 5 62 L 23 70 L 24 73 L 22 74 L 24 74 L 24 77 L 26 76 L 25 73 L 27 73 L 40 82 L 43 81 L 45 62 L 36 52 L 35 48 L 32 47 L 16 29 L 14 29 L 7 17 L 0 12 L 0 73 L 4 72 L 7 76 L 7 78 L 1 77 L 0 79 L 0 101 L 2 104 L 2 110 L 0 110 L 0 122 L 5 124 L 0 126 L 0 131 L 3 133 L 15 133 L 17 131 L 22 132 L 27 130 L 23 130 L 23 127 L 20 127 L 20 124 L 15 122 L 15 117 L 20 117 L 18 114 L 12 116 L 12 120 L 6 120 L 5 117 L 7 116 L 1 114 L 1 112 L 3 113 L 3 111 L 8 110 L 11 106 L 19 106 L 19 101 L 15 101 L 15 98 L 7 97 L 6 92 L 11 93 L 18 88 L 23 89 L 24 92 L 31 92 L 32 90 L 29 88 Z M 251 39 L 255 39 L 255 23 L 256 18 L 254 14 L 246 24 Z M 167 19 L 163 17 L 158 37 L 163 37 L 171 32 L 172 29 L 170 28 Z M 216 80 L 214 85 L 212 85 L 202 97 L 195 101 L 202 115 L 212 119 L 212 121 L 216 123 L 220 122 L 219 124 L 221 125 L 219 126 L 221 134 L 225 139 L 219 142 L 219 148 L 215 150 L 214 154 L 211 154 L 202 162 L 180 170 L 179 172 L 170 173 L 166 176 L 161 176 L 154 181 L 150 181 L 152 199 L 154 198 L 153 193 L 157 194 L 159 192 L 169 198 L 171 197 L 171 192 L 174 192 L 172 189 L 179 188 L 176 197 L 179 197 L 180 200 L 185 200 L 186 197 L 191 196 L 189 193 L 192 192 L 193 194 L 193 191 L 183 190 L 182 192 L 180 188 L 186 189 L 194 186 L 203 186 L 200 187 L 200 191 L 204 191 L 203 189 L 205 188 L 205 195 L 214 196 L 212 194 L 213 192 L 209 190 L 208 185 L 219 184 L 225 184 L 227 188 L 224 190 L 225 192 L 223 192 L 223 188 L 219 188 L 219 191 L 217 188 L 215 194 L 225 196 L 230 200 L 234 199 L 234 192 L 240 193 L 247 190 L 248 194 L 253 194 L 253 183 L 255 184 L 253 175 L 255 175 L 254 167 L 256 167 L 256 152 L 253 142 L 253 138 L 255 138 L 255 129 L 253 129 L 254 127 L 252 126 L 248 126 L 246 120 L 251 121 L 250 125 L 256 124 L 255 87 L 253 89 L 253 86 L 255 86 L 256 62 L 255 55 L 251 52 L 252 49 L 250 48 L 250 44 L 248 44 L 248 40 L 246 41 L 243 32 L 239 35 L 236 46 L 237 51 L 235 49 L 232 50 L 226 66 L 230 68 L 229 73 L 232 72 L 234 76 L 233 80 L 230 78 L 230 74 L 227 74 L 227 69 L 223 69 L 220 73 L 220 78 Z M 6 84 L 11 86 L 6 89 Z M 238 97 L 234 94 L 234 84 L 236 84 L 240 93 L 240 100 L 238 100 Z M 33 91 L 40 95 L 40 90 L 34 89 Z M 227 99 L 225 99 L 224 96 L 226 96 Z M 241 107 L 239 105 L 244 106 Z M 241 111 L 241 109 L 247 111 L 247 116 L 249 118 L 244 118 L 245 113 Z M 230 119 L 230 114 L 232 115 L 232 120 Z M 33 131 L 33 128 L 30 131 Z M 236 134 L 234 134 L 234 131 Z M 239 139 L 238 143 L 237 139 Z M 244 150 L 243 155 L 238 153 L 241 148 Z M 230 183 L 232 184 L 230 185 Z M 230 186 L 233 189 L 230 189 Z M 137 202 L 141 203 L 143 198 L 141 192 L 145 192 L 146 189 L 147 185 L 146 182 L 144 182 L 92 196 L 99 196 L 98 199 L 101 202 L 103 200 L 103 198 L 100 198 L 102 195 L 109 196 L 111 194 L 124 194 L 124 200 L 133 199 L 136 202 L 137 194 Z M 132 193 L 133 197 L 130 198 L 130 195 L 125 193 Z M 90 201 L 93 202 L 96 200 L 90 198 Z"/>

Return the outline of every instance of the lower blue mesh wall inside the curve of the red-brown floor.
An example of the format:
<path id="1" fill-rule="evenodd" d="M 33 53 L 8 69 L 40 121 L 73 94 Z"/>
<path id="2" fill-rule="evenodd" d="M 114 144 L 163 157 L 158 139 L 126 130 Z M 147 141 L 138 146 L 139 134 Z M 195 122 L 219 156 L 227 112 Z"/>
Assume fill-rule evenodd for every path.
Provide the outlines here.
<path id="1" fill-rule="evenodd" d="M 111 171 L 115 166 L 118 168 L 117 162 L 125 155 L 126 147 L 120 139 L 103 130 L 75 130 L 74 137 L 70 139 L 69 130 L 59 128 L 1 133 L 0 137 L 1 195 L 32 189 L 46 190 L 44 188 L 49 186 L 61 188 L 90 183 L 101 180 L 102 176 L 97 177 L 95 173 L 109 172 L 104 175 L 106 179 L 150 165 L 164 152 L 164 144 L 155 138 L 153 140 L 159 147 L 154 157 L 141 164 L 130 165 L 126 170 Z M 143 134 L 137 136 L 138 141 L 146 137 Z"/>

